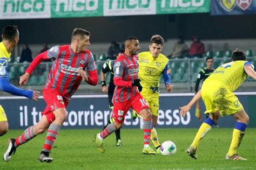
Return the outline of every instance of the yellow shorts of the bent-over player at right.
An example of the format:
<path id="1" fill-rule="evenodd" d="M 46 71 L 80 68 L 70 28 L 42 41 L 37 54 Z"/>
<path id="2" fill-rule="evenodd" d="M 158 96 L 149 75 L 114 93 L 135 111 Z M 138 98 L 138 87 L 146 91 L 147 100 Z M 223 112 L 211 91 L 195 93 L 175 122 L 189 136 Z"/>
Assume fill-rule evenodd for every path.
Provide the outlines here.
<path id="1" fill-rule="evenodd" d="M 219 110 L 221 116 L 226 116 L 243 109 L 242 104 L 232 91 L 213 82 L 203 84 L 201 96 L 206 107 L 205 114 L 212 114 Z"/>

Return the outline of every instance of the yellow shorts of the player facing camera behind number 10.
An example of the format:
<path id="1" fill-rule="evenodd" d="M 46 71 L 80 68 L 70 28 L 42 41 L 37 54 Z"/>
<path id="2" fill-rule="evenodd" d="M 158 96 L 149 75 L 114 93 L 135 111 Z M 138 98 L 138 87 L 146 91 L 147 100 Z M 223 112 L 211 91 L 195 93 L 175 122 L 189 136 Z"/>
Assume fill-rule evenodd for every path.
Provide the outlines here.
<path id="1" fill-rule="evenodd" d="M 151 94 L 148 93 L 140 93 L 142 94 L 143 98 L 147 101 L 150 107 L 150 111 L 152 112 L 152 115 L 158 116 L 158 110 L 159 110 L 159 94 Z"/>

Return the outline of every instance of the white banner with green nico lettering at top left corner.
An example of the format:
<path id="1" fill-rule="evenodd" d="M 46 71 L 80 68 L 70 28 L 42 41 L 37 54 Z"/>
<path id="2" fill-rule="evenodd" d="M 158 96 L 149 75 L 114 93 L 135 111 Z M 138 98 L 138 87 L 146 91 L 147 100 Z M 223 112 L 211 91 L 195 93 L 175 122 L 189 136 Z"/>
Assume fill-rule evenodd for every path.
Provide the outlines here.
<path id="1" fill-rule="evenodd" d="M 50 18 L 49 0 L 1 0 L 0 19 Z"/>

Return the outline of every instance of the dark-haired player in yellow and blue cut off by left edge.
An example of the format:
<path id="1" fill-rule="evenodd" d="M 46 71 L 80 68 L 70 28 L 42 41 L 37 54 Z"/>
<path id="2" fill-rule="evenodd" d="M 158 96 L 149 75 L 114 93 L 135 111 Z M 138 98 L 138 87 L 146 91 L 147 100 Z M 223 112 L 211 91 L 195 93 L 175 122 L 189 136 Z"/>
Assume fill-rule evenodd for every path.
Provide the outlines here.
<path id="1" fill-rule="evenodd" d="M 33 100 L 38 100 L 39 91 L 24 90 L 12 86 L 8 77 L 8 60 L 11 57 L 11 51 L 19 40 L 18 28 L 15 25 L 7 25 L 2 32 L 3 41 L 0 42 L 0 90 L 16 96 L 25 96 Z M 5 111 L 0 104 L 0 136 L 8 132 L 8 120 Z"/>

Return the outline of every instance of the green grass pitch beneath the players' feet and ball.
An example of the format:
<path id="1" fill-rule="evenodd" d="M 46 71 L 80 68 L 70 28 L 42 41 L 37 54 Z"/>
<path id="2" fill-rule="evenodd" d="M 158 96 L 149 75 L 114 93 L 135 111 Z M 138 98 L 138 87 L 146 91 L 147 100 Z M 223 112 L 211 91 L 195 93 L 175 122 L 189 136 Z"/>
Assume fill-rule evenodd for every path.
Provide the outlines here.
<path id="1" fill-rule="evenodd" d="M 53 146 L 53 162 L 37 162 L 45 133 L 17 148 L 9 162 L 0 161 L 0 169 L 256 169 L 255 129 L 248 128 L 238 153 L 247 161 L 227 161 L 233 129 L 212 129 L 201 140 L 198 159 L 185 153 L 197 129 L 157 129 L 161 142 L 172 140 L 177 145 L 175 155 L 143 155 L 143 132 L 139 129 L 122 129 L 122 147 L 115 146 L 114 133 L 105 139 L 105 153 L 99 153 L 90 130 L 60 130 Z M 8 139 L 23 131 L 10 130 L 0 138 L 0 154 L 7 148 Z"/>

